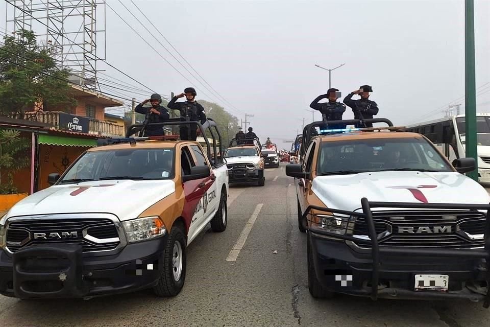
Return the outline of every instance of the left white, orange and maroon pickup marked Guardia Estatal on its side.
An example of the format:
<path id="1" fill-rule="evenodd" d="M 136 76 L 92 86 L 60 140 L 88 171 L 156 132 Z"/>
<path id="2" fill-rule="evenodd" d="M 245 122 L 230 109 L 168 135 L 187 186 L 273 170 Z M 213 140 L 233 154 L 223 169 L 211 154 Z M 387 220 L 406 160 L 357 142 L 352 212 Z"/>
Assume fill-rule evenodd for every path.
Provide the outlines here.
<path id="1" fill-rule="evenodd" d="M 152 125 L 163 124 L 189 123 Z M 179 294 L 188 245 L 209 223 L 213 231 L 226 229 L 228 172 L 223 160 L 211 161 L 210 149 L 217 150 L 207 141 L 204 151 L 174 136 L 129 137 L 146 126 L 103 140 L 0 219 L 0 293 L 21 299 L 146 288 Z M 216 124 L 209 126 L 219 140 Z"/>

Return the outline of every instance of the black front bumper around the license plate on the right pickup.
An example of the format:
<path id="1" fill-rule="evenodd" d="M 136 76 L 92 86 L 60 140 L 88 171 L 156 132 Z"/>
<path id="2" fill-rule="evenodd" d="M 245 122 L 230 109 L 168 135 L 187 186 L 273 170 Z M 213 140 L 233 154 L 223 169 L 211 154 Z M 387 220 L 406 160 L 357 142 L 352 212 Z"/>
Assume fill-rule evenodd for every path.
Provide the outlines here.
<path id="1" fill-rule="evenodd" d="M 310 232 L 316 278 L 337 293 L 372 296 L 373 264 L 370 254 L 356 253 L 345 242 L 332 241 Z M 384 256 L 377 271 L 376 298 L 485 299 L 487 270 L 483 259 L 441 258 L 395 254 Z M 449 290 L 415 291 L 416 274 L 449 275 Z M 342 277 L 349 281 L 342 282 Z M 347 278 L 347 276 L 351 276 Z"/>

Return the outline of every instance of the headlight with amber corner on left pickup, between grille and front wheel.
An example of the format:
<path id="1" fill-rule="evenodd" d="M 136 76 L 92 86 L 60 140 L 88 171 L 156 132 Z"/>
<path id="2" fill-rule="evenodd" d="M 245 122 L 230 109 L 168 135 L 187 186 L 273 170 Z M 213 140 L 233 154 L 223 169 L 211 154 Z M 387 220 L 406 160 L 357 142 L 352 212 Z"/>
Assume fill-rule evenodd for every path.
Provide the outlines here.
<path id="1" fill-rule="evenodd" d="M 128 242 L 151 240 L 165 235 L 166 228 L 158 216 L 137 218 L 122 223 Z"/>

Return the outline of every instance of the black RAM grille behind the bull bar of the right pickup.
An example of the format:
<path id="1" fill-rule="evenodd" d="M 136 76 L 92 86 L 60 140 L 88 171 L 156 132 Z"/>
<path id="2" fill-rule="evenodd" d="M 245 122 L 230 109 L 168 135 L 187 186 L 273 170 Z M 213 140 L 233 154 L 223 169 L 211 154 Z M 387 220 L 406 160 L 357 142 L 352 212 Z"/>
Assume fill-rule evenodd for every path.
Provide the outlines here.
<path id="1" fill-rule="evenodd" d="M 483 247 L 486 216 L 476 211 L 382 211 L 373 212 L 380 246 L 398 247 Z M 355 244 L 369 247 L 367 225 L 362 218 L 354 224 Z"/>

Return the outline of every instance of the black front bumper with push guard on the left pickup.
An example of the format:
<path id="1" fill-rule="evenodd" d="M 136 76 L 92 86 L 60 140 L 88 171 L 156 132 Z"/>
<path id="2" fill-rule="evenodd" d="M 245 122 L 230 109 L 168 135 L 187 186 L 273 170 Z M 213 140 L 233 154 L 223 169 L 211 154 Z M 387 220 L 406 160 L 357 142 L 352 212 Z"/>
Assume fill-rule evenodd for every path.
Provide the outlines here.
<path id="1" fill-rule="evenodd" d="M 84 256 L 79 245 L 50 243 L 0 253 L 0 293 L 27 298 L 90 298 L 150 288 L 163 269 L 164 237 L 120 252 Z"/>

